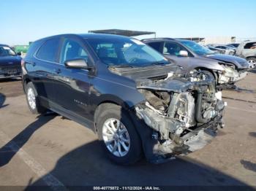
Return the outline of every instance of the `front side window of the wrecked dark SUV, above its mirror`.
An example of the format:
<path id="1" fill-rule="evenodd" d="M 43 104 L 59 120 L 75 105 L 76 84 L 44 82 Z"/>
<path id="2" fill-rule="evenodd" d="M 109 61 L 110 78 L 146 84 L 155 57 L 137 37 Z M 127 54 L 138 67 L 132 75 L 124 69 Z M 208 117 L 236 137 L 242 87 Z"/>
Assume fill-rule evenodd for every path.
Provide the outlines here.
<path id="1" fill-rule="evenodd" d="M 88 54 L 78 42 L 66 39 L 61 50 L 61 63 L 73 59 L 85 59 L 88 62 Z"/>

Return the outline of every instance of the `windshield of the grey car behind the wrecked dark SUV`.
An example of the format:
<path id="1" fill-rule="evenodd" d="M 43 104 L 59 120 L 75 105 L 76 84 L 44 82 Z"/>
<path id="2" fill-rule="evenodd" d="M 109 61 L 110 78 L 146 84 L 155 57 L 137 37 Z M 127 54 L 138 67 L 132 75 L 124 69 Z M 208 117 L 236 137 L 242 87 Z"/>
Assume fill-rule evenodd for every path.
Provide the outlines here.
<path id="1" fill-rule="evenodd" d="M 192 41 L 181 41 L 181 44 L 183 44 L 185 47 L 189 48 L 193 52 L 195 52 L 197 55 L 213 55 L 215 54 L 214 51 L 211 51 L 207 47 L 203 47 L 200 44 L 197 44 L 196 42 Z"/>

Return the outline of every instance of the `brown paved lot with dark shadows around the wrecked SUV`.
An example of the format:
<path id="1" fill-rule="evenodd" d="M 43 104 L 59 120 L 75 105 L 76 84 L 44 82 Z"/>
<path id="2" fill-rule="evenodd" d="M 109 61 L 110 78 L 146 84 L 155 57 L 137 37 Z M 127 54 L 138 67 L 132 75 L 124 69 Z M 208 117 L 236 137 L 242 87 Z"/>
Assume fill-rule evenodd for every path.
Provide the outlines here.
<path id="1" fill-rule="evenodd" d="M 256 73 L 223 93 L 225 128 L 169 163 L 111 163 L 97 136 L 56 114 L 29 112 L 19 80 L 0 82 L 0 185 L 229 185 L 256 187 Z M 253 188 L 254 187 L 254 188 Z"/>

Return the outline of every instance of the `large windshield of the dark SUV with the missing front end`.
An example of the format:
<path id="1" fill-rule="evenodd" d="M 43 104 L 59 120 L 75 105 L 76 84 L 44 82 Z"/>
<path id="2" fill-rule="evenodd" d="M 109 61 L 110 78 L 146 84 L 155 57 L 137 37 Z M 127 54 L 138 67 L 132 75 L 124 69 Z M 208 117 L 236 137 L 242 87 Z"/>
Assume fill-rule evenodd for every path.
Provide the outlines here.
<path id="1" fill-rule="evenodd" d="M 159 52 L 136 39 L 87 39 L 99 59 L 108 65 L 148 66 L 169 63 Z"/>

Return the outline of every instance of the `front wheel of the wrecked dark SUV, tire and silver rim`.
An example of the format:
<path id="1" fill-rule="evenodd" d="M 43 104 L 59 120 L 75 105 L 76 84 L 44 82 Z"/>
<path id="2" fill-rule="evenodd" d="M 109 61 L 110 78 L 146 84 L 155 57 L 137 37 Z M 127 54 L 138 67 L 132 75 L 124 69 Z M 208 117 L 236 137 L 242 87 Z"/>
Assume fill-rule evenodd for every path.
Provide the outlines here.
<path id="1" fill-rule="evenodd" d="M 121 106 L 102 104 L 97 116 L 97 133 L 110 160 L 121 165 L 137 162 L 142 155 L 142 144 L 135 126 Z"/>

